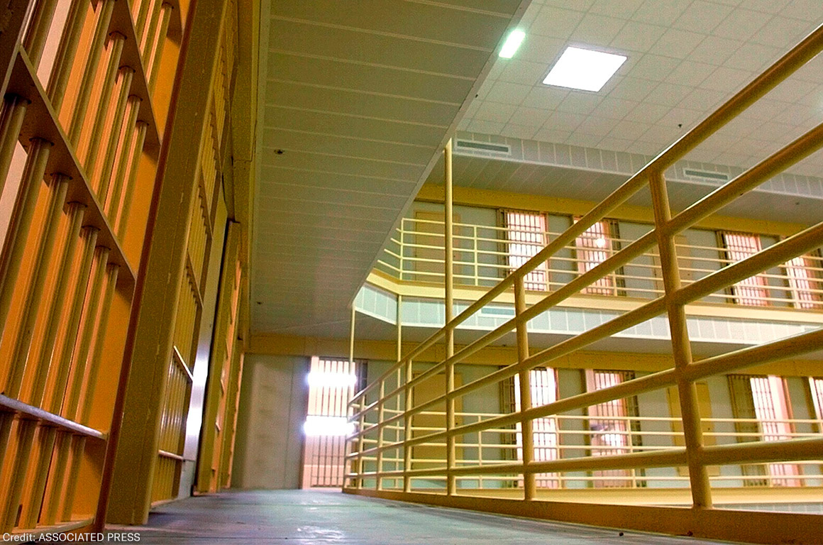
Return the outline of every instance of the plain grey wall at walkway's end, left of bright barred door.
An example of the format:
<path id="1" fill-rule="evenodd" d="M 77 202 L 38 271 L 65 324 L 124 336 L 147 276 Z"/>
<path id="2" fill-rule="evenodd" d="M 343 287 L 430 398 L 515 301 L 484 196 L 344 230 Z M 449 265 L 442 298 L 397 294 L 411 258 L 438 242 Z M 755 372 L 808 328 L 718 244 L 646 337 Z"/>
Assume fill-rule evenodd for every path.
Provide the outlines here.
<path id="1" fill-rule="evenodd" d="M 309 361 L 308 356 L 246 356 L 232 487 L 300 488 Z"/>

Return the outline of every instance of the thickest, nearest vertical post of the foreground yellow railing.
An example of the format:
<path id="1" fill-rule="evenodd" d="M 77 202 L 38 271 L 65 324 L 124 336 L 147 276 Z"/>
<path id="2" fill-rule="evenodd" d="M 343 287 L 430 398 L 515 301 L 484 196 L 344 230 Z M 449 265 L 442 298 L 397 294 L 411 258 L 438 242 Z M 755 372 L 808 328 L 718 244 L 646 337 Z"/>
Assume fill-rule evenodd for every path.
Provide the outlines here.
<path id="1" fill-rule="evenodd" d="M 686 329 L 686 310 L 683 305 L 678 305 L 673 299 L 674 293 L 680 289 L 681 281 L 680 272 L 677 268 L 674 236 L 667 229 L 668 223 L 672 219 L 672 211 L 668 202 L 666 179 L 663 177 L 662 172 L 653 172 L 649 175 L 649 189 L 652 193 L 654 227 L 658 237 L 660 267 L 663 272 L 663 289 L 666 297 L 669 329 L 672 334 L 672 356 L 674 356 L 677 376 L 677 391 L 680 394 L 691 498 L 696 508 L 711 508 L 712 496 L 709 486 L 709 472 L 706 470 L 706 466 L 700 463 L 700 450 L 703 449 L 703 431 L 700 429 L 697 391 L 695 384 L 683 376 L 684 371 L 692 361 L 691 345 L 689 332 Z"/>

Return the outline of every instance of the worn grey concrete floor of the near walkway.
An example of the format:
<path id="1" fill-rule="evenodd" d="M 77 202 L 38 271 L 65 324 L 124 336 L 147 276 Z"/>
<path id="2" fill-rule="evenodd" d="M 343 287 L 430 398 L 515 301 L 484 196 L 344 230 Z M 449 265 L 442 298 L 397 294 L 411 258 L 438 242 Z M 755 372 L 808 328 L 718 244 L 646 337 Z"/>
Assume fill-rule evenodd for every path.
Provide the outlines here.
<path id="1" fill-rule="evenodd" d="M 152 511 L 141 545 L 700 545 L 718 543 L 486 515 L 324 491 L 237 491 Z"/>

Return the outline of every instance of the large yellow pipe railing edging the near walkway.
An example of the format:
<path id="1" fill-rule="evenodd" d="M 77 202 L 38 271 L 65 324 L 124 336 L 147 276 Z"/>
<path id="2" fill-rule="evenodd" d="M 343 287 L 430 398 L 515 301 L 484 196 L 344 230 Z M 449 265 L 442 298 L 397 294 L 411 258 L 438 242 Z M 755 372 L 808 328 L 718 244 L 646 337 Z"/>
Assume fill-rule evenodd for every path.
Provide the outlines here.
<path id="1" fill-rule="evenodd" d="M 700 300 L 718 291 L 728 289 L 746 278 L 760 274 L 770 268 L 779 267 L 797 256 L 808 254 L 821 245 L 823 240 L 823 222 L 811 226 L 759 253 L 710 272 L 689 284 L 684 284 L 677 267 L 677 249 L 674 237 L 681 231 L 694 226 L 696 222 L 717 212 L 737 199 L 743 193 L 756 188 L 774 175 L 817 151 L 823 146 L 823 125 L 818 126 L 795 141 L 783 147 L 773 155 L 746 170 L 742 175 L 732 179 L 723 187 L 693 203 L 682 212 L 672 217 L 668 204 L 666 182 L 663 172 L 675 161 L 680 160 L 688 151 L 695 148 L 711 134 L 734 119 L 744 109 L 772 90 L 788 75 L 802 67 L 823 49 L 823 27 L 817 29 L 802 40 L 788 54 L 780 58 L 773 66 L 734 95 L 703 122 L 690 130 L 677 142 L 668 147 L 637 174 L 628 179 L 615 192 L 598 203 L 569 229 L 557 235 L 536 255 L 511 272 L 501 282 L 491 287 L 484 296 L 469 305 L 457 316 L 453 312 L 453 221 L 451 216 L 451 151 L 450 144 L 445 150 L 446 165 L 446 203 L 445 203 L 445 289 L 446 313 L 445 325 L 436 333 L 421 342 L 412 351 L 398 357 L 377 380 L 373 380 L 365 389 L 351 400 L 351 420 L 357 423 L 357 431 L 349 438 L 350 468 L 346 475 L 346 491 L 372 494 L 415 501 L 435 501 L 439 505 L 467 506 L 472 509 L 497 510 L 499 512 L 520 515 L 535 514 L 551 519 L 570 519 L 576 522 L 594 522 L 605 525 L 648 529 L 668 533 L 690 533 L 714 538 L 734 540 L 751 540 L 759 543 L 777 543 L 789 538 L 795 543 L 812 543 L 823 535 L 823 517 L 816 515 L 791 515 L 793 524 L 779 519 L 774 514 L 746 513 L 746 515 L 713 509 L 712 488 L 709 483 L 709 467 L 723 465 L 741 465 L 756 463 L 809 462 L 819 459 L 823 452 L 823 436 L 793 438 L 777 441 L 753 441 L 741 444 L 705 445 L 701 429 L 700 411 L 697 403 L 695 380 L 722 375 L 734 370 L 768 362 L 781 361 L 786 358 L 801 356 L 819 350 L 823 342 L 823 330 L 802 333 L 792 338 L 784 338 L 756 347 L 746 348 L 714 356 L 702 361 L 694 361 L 689 335 L 686 329 L 687 304 Z M 654 212 L 654 228 L 648 234 L 625 245 L 602 263 L 580 274 L 565 285 L 552 291 L 540 302 L 531 307 L 525 304 L 525 277 L 529 272 L 540 267 L 542 263 L 553 259 L 556 254 L 584 234 L 597 221 L 602 221 L 616 207 L 625 203 L 641 189 L 651 192 Z M 663 293 L 635 310 L 621 314 L 611 321 L 590 328 L 584 333 L 558 342 L 540 352 L 529 350 L 526 324 L 528 320 L 578 294 L 597 280 L 614 274 L 618 268 L 631 263 L 639 256 L 658 247 L 659 263 L 662 276 Z M 472 314 L 484 305 L 495 300 L 504 291 L 514 288 L 515 316 L 505 324 L 483 334 L 477 340 L 455 351 L 454 332 Z M 579 349 L 590 347 L 601 341 L 660 314 L 667 314 L 671 332 L 672 356 L 674 367 L 652 375 L 646 375 L 622 384 L 574 395 L 532 407 L 530 399 L 529 370 L 537 366 L 551 365 L 552 361 L 569 355 Z M 468 384 L 455 384 L 455 366 L 504 335 L 516 332 L 518 361 L 495 370 L 488 375 L 472 380 Z M 430 366 L 416 375 L 412 362 L 421 359 L 426 351 L 441 341 L 445 342 L 445 359 Z M 503 413 L 486 418 L 480 422 L 461 423 L 456 414 L 458 402 L 467 394 L 478 389 L 499 384 L 502 380 L 518 375 L 520 385 L 520 410 Z M 424 381 L 437 377 L 442 380 L 439 391 L 425 403 L 416 403 L 414 394 Z M 683 447 L 666 450 L 630 452 L 626 454 L 608 454 L 602 456 L 582 456 L 570 459 L 538 460 L 534 457 L 532 444 L 532 424 L 536 418 L 552 417 L 563 412 L 588 408 L 597 403 L 635 396 L 664 387 L 676 386 L 680 403 L 680 425 L 683 430 Z M 390 413 L 387 407 L 401 408 L 400 412 Z M 413 434 L 412 417 L 419 419 L 422 412 L 435 410 L 445 413 L 445 422 L 438 431 Z M 416 421 L 417 422 L 417 421 Z M 523 431 L 523 456 L 521 460 L 490 467 L 474 463 L 458 465 L 459 447 L 468 434 L 479 433 L 501 426 L 519 425 Z M 402 426 L 403 435 L 399 441 L 387 441 L 385 432 L 388 426 Z M 367 444 L 367 440 L 374 442 Z M 416 468 L 413 465 L 415 447 L 444 444 L 445 448 L 436 451 L 441 460 L 437 468 Z M 370 446 L 374 445 L 374 446 Z M 385 468 L 387 454 L 394 454 L 394 459 L 402 459 L 400 469 Z M 366 456 L 374 456 L 376 466 L 370 467 Z M 585 509 L 569 506 L 556 510 L 542 505 L 536 500 L 536 481 L 539 473 L 562 473 L 572 471 L 603 472 L 632 468 L 674 468 L 688 470 L 688 481 L 692 509 L 688 511 L 670 511 L 661 507 L 649 506 L 644 510 L 628 513 L 625 510 L 608 510 L 599 504 L 585 505 Z M 479 475 L 496 475 L 516 477 L 523 480 L 524 501 L 517 506 L 505 502 L 482 503 L 465 501 L 464 496 L 472 496 L 472 490 L 458 487 L 458 480 Z M 414 491 L 412 482 L 421 478 L 445 481 L 445 486 L 437 493 L 420 494 Z M 389 494 L 384 489 L 387 479 L 400 479 L 402 491 Z M 371 491 L 366 487 L 372 488 Z M 430 491 L 432 492 L 432 491 Z M 444 500 L 433 500 L 443 496 Z M 741 524 L 745 521 L 744 524 Z M 791 526 L 791 528 L 789 528 Z"/>

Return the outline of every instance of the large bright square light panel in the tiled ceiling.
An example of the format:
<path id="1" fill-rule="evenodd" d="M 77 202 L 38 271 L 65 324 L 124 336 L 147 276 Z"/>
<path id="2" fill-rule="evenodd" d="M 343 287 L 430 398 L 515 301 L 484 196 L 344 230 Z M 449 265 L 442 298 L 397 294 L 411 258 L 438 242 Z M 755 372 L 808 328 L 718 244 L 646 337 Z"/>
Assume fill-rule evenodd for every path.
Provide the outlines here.
<path id="1" fill-rule="evenodd" d="M 623 55 L 567 47 L 543 83 L 583 91 L 600 91 L 623 63 Z"/>

